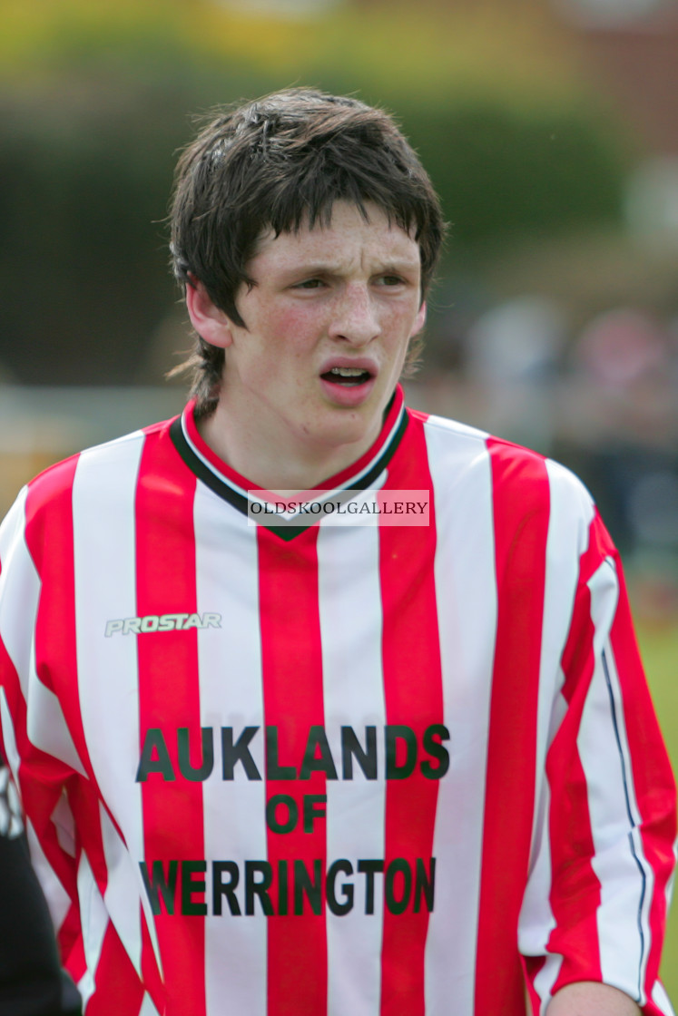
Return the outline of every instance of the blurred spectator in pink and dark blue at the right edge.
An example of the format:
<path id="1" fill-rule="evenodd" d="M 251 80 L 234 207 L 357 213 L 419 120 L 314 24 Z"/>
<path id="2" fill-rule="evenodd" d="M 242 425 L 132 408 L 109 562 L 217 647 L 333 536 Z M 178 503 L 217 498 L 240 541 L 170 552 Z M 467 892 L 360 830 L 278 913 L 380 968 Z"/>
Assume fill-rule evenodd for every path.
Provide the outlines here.
<path id="1" fill-rule="evenodd" d="M 576 337 L 557 453 L 576 465 L 628 561 L 678 580 L 678 386 L 670 328 L 617 307 Z"/>

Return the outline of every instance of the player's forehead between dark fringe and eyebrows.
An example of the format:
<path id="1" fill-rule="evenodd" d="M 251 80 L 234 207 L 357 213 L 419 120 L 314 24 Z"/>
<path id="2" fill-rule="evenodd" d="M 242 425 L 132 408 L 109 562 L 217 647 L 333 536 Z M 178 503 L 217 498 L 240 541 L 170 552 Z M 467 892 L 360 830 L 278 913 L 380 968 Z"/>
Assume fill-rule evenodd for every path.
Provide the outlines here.
<path id="1" fill-rule="evenodd" d="M 388 220 L 378 205 L 365 203 L 367 217 L 348 201 L 335 201 L 327 225 L 302 223 L 298 230 L 275 236 L 262 234 L 250 266 L 287 266 L 306 260 L 322 260 L 337 265 L 356 260 L 390 264 L 393 261 L 420 264 L 419 245 L 395 221 Z"/>

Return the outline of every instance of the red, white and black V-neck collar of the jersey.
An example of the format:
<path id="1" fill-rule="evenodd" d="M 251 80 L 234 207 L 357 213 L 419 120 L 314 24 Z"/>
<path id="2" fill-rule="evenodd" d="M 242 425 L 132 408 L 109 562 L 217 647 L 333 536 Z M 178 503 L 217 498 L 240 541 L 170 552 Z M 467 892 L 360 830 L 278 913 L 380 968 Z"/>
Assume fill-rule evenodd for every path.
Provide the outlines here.
<path id="1" fill-rule="evenodd" d="M 312 497 L 314 490 L 336 494 L 341 491 L 358 491 L 370 487 L 386 468 L 407 426 L 405 397 L 400 385 L 397 385 L 386 408 L 381 432 L 374 444 L 356 462 L 329 477 L 318 487 L 306 491 L 305 496 Z M 248 491 L 254 492 L 254 496 L 260 500 L 274 500 L 275 495 L 236 472 L 205 443 L 195 423 L 194 400 L 188 402 L 181 417 L 172 422 L 170 436 L 182 459 L 198 480 L 244 515 L 247 515 L 250 503 Z M 261 524 L 267 523 L 262 520 Z M 273 529 L 283 538 L 291 539 L 313 524 L 313 521 L 299 526 L 269 524 L 268 528 Z"/>

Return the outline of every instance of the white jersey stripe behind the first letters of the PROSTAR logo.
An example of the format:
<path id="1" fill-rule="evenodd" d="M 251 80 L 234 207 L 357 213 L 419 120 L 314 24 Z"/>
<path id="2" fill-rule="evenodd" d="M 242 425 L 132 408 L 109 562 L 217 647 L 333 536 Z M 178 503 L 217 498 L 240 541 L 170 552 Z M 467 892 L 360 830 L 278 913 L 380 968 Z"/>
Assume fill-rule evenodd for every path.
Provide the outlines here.
<path id="1" fill-rule="evenodd" d="M 93 769 L 111 813 L 138 868 L 143 859 L 139 761 L 139 706 L 136 639 L 105 636 L 106 622 L 136 615 L 135 497 L 143 436 L 136 434 L 83 452 L 73 482 L 73 554 L 77 631 L 78 695 Z M 103 831 L 105 831 L 103 829 Z M 114 850 L 112 841 L 108 848 Z M 114 853 L 116 851 L 114 850 Z M 116 864 L 120 864 L 117 859 Z M 140 874 L 134 896 L 107 902 L 129 903 L 136 919 L 141 896 L 159 957 L 155 922 Z M 114 883 L 127 891 L 123 878 Z M 113 890 L 112 890 L 113 891 Z M 121 926 L 122 927 L 122 926 Z M 139 933 L 140 934 L 140 933 Z M 138 966 L 137 932 L 130 933 L 132 962 Z M 160 962 L 160 960 L 159 960 Z"/>

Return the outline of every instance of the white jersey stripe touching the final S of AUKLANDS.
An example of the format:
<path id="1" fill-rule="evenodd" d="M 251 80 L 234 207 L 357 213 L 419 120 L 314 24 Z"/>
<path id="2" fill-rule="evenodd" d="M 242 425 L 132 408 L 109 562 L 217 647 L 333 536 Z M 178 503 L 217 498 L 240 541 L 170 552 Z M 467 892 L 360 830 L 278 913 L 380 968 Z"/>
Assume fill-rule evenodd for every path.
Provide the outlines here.
<path id="1" fill-rule="evenodd" d="M 450 434 L 453 432 L 455 436 Z M 487 742 L 497 593 L 490 460 L 482 436 L 430 419 L 436 599 L 449 770 L 440 780 L 435 908 L 426 949 L 426 1009 L 474 1011 Z"/>

